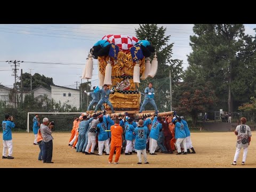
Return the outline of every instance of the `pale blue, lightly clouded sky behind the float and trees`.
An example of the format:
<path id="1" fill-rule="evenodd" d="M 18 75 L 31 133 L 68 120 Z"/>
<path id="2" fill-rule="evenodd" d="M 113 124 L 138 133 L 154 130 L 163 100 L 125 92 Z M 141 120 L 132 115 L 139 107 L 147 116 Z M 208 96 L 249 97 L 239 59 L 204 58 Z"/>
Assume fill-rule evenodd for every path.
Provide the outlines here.
<path id="1" fill-rule="evenodd" d="M 166 27 L 166 35 L 171 35 L 173 59 L 183 60 L 183 69 L 188 66 L 187 56 L 191 52 L 189 36 L 193 35 L 193 24 L 159 24 Z M 94 43 L 108 34 L 135 36 L 138 24 L 82 24 L 82 25 L 0 25 L 0 61 L 20 60 L 36 62 L 64 63 L 20 63 L 23 73 L 39 73 L 52 77 L 55 85 L 76 87 L 81 82 L 88 51 Z M 245 24 L 245 33 L 254 35 L 256 25 Z M 94 60 L 97 64 L 97 60 Z M 0 62 L 0 83 L 12 87 L 14 76 L 7 62 Z M 20 75 L 20 70 L 18 71 Z M 98 85 L 98 68 L 94 65 L 92 85 Z M 89 80 L 90 81 L 90 80 Z M 86 80 L 83 79 L 83 82 Z"/>

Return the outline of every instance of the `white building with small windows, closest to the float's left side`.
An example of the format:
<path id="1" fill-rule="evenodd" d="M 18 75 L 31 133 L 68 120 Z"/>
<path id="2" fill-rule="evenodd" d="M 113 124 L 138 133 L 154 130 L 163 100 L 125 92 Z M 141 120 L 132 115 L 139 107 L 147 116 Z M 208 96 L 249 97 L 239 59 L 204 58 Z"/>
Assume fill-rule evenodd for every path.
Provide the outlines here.
<path id="1" fill-rule="evenodd" d="M 79 108 L 80 106 L 80 91 L 76 89 L 71 89 L 68 87 L 58 86 L 58 85 L 51 85 L 52 89 L 52 99 L 55 102 L 66 103 L 71 107 Z"/>

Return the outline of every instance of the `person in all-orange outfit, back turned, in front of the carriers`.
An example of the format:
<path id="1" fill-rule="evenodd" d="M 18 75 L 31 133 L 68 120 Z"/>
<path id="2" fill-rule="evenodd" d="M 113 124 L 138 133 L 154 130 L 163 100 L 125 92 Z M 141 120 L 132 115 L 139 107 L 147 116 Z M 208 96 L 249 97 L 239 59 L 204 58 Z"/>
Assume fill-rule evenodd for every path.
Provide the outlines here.
<path id="1" fill-rule="evenodd" d="M 119 124 L 114 124 L 110 127 L 111 131 L 111 147 L 110 147 L 110 154 L 108 161 L 112 163 L 113 161 L 113 155 L 116 150 L 116 156 L 115 156 L 115 163 L 118 162 L 120 154 L 121 154 L 121 148 L 122 148 L 122 134 L 123 134 L 123 128 Z"/>

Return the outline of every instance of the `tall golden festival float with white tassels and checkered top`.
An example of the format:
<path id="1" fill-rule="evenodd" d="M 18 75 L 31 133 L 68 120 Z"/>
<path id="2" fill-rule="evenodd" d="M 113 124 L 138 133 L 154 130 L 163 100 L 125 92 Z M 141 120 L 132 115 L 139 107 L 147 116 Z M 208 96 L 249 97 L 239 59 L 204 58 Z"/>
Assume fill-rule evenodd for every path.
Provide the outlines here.
<path id="1" fill-rule="evenodd" d="M 149 57 L 153 53 L 154 59 L 151 61 Z M 103 36 L 90 50 L 82 74 L 83 79 L 92 78 L 93 58 L 98 60 L 99 86 L 107 84 L 108 89 L 114 91 L 109 95 L 109 101 L 116 113 L 110 114 L 111 116 L 129 114 L 131 117 L 143 117 L 155 114 L 154 110 L 139 113 L 140 102 L 143 100 L 138 91 L 140 81 L 148 77 L 153 78 L 157 73 L 157 56 L 150 42 L 139 41 L 138 38 L 129 35 Z M 110 113 L 107 104 L 105 109 Z M 93 114 L 93 111 L 86 113 Z M 158 113 L 158 116 L 170 114 L 172 111 Z"/>

